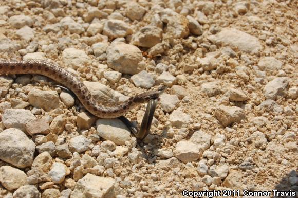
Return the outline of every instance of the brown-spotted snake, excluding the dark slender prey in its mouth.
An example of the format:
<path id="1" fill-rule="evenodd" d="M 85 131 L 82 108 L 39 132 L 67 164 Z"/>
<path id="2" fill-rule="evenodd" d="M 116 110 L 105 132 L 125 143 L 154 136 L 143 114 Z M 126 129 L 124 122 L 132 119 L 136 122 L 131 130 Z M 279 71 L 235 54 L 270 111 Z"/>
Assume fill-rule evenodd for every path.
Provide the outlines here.
<path id="1" fill-rule="evenodd" d="M 43 60 L 6 61 L 0 60 L 0 74 L 39 74 L 44 75 L 69 88 L 91 114 L 99 118 L 117 118 L 132 110 L 140 103 L 158 98 L 165 90 L 162 86 L 156 91 L 135 95 L 115 107 L 106 107 L 96 102 L 87 87 L 76 77 L 61 67 Z M 151 123 L 150 123 L 151 124 Z"/>

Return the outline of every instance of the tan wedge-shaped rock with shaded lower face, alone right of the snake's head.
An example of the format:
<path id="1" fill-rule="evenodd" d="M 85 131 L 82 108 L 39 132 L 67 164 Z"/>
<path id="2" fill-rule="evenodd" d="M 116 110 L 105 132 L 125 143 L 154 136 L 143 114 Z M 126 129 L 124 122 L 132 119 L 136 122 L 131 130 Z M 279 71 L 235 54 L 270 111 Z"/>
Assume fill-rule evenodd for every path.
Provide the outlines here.
<path id="1" fill-rule="evenodd" d="M 243 109 L 237 106 L 220 105 L 216 108 L 214 115 L 224 127 L 245 118 Z"/>

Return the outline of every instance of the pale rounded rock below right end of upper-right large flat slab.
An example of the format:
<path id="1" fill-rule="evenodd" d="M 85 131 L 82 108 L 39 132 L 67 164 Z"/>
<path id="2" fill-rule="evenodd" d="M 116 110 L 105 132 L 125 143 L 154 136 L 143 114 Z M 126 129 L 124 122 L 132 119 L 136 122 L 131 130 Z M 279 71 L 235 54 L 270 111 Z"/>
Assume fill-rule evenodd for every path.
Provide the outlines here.
<path id="1" fill-rule="evenodd" d="M 274 57 L 263 57 L 257 63 L 257 66 L 262 71 L 267 71 L 269 74 L 272 74 L 274 71 L 280 70 L 283 63 L 278 61 Z"/>

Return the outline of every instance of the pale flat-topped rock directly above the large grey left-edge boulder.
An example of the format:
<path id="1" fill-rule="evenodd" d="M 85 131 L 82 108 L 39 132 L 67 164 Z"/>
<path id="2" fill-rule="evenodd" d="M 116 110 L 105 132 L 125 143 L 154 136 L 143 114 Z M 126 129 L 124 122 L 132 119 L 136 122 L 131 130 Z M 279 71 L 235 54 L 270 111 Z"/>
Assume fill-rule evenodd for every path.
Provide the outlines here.
<path id="1" fill-rule="evenodd" d="M 2 123 L 6 128 L 17 128 L 26 132 L 26 124 L 35 120 L 35 116 L 24 109 L 7 109 L 2 114 Z"/>

